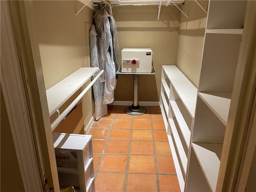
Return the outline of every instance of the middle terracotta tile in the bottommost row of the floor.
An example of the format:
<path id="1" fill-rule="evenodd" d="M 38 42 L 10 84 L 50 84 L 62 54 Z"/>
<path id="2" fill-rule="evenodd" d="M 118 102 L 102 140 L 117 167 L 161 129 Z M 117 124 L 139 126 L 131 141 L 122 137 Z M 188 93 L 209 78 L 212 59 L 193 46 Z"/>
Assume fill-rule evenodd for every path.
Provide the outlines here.
<path id="1" fill-rule="evenodd" d="M 156 175 L 128 174 L 126 192 L 156 192 Z"/>

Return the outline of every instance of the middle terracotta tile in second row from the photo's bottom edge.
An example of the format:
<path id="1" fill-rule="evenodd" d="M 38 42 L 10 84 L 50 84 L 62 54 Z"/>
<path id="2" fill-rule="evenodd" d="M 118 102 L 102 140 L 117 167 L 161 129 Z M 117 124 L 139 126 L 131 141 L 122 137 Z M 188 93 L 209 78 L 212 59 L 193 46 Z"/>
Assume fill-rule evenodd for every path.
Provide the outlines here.
<path id="1" fill-rule="evenodd" d="M 130 155 L 128 172 L 155 173 L 155 157 L 146 155 Z"/>

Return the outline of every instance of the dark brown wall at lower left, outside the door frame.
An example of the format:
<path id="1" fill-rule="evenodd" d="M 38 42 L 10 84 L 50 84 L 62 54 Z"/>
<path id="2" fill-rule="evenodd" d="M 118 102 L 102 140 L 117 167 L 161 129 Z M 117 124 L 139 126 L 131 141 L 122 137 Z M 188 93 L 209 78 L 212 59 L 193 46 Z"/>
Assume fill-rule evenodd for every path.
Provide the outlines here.
<path id="1" fill-rule="evenodd" d="M 2 192 L 23 192 L 24 185 L 12 139 L 6 105 L 1 86 L 1 187 Z"/>

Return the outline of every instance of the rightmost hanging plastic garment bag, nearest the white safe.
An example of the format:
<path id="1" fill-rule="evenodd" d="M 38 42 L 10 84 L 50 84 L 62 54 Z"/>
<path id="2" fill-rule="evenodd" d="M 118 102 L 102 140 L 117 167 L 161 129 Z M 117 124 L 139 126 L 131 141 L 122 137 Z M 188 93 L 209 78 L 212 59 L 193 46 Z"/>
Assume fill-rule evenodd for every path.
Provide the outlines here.
<path id="1" fill-rule="evenodd" d="M 121 63 L 118 62 L 118 53 L 119 53 L 119 46 L 118 46 L 118 37 L 117 37 L 117 27 L 116 21 L 112 14 L 112 8 L 108 10 L 108 14 L 110 15 L 110 31 L 113 40 L 113 55 L 114 55 L 114 62 L 116 66 L 116 72 L 120 69 Z"/>

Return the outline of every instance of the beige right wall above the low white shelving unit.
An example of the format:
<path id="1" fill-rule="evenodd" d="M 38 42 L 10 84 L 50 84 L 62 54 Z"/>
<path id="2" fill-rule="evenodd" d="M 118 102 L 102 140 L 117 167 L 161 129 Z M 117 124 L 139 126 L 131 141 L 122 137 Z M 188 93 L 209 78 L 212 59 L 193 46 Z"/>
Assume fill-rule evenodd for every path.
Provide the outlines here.
<path id="1" fill-rule="evenodd" d="M 206 11 L 208 10 L 208 1 L 198 2 Z M 198 87 L 206 14 L 194 1 L 185 1 L 182 11 L 189 19 L 180 13 L 177 67 Z"/>

